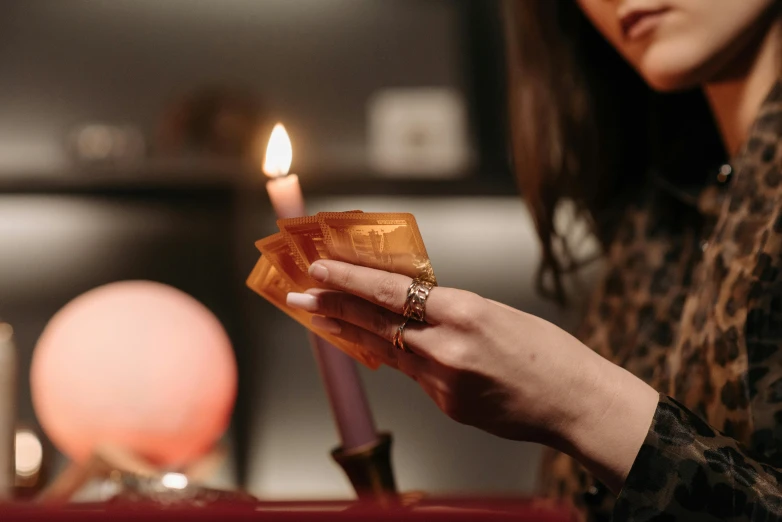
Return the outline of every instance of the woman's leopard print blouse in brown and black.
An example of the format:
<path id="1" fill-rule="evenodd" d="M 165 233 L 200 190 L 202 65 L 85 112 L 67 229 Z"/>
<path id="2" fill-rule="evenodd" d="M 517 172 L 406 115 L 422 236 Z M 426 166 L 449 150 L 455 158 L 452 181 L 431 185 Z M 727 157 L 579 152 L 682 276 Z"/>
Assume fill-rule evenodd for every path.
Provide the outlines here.
<path id="1" fill-rule="evenodd" d="M 780 138 L 782 82 L 732 171 L 628 210 L 578 334 L 661 398 L 617 499 L 544 456 L 546 492 L 587 520 L 782 520 Z"/>

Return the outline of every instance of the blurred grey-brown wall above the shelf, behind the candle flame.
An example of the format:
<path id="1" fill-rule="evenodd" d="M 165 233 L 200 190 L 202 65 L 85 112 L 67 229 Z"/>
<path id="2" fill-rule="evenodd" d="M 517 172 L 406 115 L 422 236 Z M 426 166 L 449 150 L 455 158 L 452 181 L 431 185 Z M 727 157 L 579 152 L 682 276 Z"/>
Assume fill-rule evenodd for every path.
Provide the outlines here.
<path id="1" fill-rule="evenodd" d="M 461 90 L 452 0 L 4 0 L 0 169 L 63 169 L 74 125 L 154 134 L 204 87 L 285 121 L 301 172 L 358 172 L 365 106 L 385 87 Z M 1 172 L 1 171 L 0 171 Z"/>

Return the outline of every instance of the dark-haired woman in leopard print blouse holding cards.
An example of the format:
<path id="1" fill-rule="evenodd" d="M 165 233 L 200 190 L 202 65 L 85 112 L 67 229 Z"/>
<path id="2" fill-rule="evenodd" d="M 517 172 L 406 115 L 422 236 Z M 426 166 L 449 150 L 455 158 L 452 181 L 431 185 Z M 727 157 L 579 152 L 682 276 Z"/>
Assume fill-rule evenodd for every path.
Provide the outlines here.
<path id="1" fill-rule="evenodd" d="M 542 280 L 563 298 L 577 266 L 555 255 L 560 201 L 575 200 L 605 244 L 578 339 L 336 261 L 311 267 L 330 290 L 289 304 L 373 348 L 454 419 L 578 462 L 552 453 L 544 483 L 590 519 L 782 519 L 779 2 L 576 3 L 651 90 L 702 93 L 652 96 L 605 72 L 619 64 L 567 0 L 510 2 L 514 149 Z M 730 167 L 710 174 L 724 154 Z"/>

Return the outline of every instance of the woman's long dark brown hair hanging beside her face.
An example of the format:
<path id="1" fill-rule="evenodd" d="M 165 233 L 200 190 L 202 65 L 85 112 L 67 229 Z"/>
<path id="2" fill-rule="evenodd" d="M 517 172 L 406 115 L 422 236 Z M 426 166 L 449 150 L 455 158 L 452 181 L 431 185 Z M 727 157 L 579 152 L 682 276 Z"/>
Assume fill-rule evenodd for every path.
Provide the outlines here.
<path id="1" fill-rule="evenodd" d="M 571 0 L 505 0 L 514 168 L 543 258 L 538 289 L 565 302 L 570 255 L 554 213 L 572 201 L 600 243 L 650 171 L 678 181 L 724 159 L 700 92 L 653 93 Z M 671 124 L 675 118 L 675 124 Z"/>

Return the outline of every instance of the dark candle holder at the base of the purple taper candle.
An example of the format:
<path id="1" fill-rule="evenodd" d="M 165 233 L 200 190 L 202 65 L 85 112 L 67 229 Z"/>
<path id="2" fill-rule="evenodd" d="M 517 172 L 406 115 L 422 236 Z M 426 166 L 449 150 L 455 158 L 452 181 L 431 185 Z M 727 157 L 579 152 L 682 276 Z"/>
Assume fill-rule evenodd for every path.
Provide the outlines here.
<path id="1" fill-rule="evenodd" d="M 370 444 L 348 451 L 339 447 L 331 452 L 353 485 L 359 502 L 374 502 L 384 508 L 399 505 L 391 466 L 391 442 L 390 433 L 380 433 Z"/>

